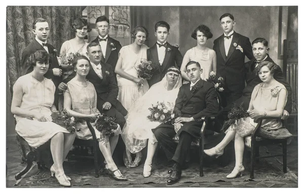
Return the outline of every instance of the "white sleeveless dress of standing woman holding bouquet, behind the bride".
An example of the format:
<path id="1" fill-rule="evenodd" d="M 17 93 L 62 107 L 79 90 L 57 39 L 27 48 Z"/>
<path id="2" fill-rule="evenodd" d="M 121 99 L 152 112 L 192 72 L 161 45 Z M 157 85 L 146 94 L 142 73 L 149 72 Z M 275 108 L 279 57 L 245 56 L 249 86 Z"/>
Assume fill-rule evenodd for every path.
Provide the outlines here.
<path id="1" fill-rule="evenodd" d="M 138 77 L 135 65 L 138 65 L 141 59 L 147 59 L 147 48 L 145 44 L 142 44 L 140 52 L 136 54 L 130 45 L 123 46 L 119 52 L 119 56 L 123 59 L 122 70 L 134 77 Z M 125 79 L 118 74 L 117 84 L 119 87 L 117 99 L 126 110 L 129 110 L 131 105 L 149 89 L 147 80 L 144 80 L 143 85 L 139 86 L 134 81 Z"/>

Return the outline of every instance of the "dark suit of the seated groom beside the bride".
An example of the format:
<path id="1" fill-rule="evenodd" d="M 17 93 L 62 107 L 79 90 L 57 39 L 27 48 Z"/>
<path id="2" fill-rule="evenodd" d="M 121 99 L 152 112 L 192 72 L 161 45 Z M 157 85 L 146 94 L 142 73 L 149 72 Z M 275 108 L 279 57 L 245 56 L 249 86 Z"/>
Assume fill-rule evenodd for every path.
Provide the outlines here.
<path id="1" fill-rule="evenodd" d="M 161 124 L 152 130 L 167 158 L 181 165 L 188 162 L 187 153 L 189 153 L 192 139 L 200 137 L 200 130 L 203 125 L 200 122 L 201 118 L 206 115 L 215 115 L 218 112 L 217 94 L 213 83 L 201 79 L 196 85 L 199 89 L 194 93 L 190 90 L 190 83 L 182 85 L 175 101 L 174 112 L 176 114 L 195 119 L 195 121 L 183 123 L 184 125 L 177 132 L 179 136 L 177 147 L 172 140 L 175 135 L 173 125 Z M 207 132 L 207 134 L 209 133 Z"/>

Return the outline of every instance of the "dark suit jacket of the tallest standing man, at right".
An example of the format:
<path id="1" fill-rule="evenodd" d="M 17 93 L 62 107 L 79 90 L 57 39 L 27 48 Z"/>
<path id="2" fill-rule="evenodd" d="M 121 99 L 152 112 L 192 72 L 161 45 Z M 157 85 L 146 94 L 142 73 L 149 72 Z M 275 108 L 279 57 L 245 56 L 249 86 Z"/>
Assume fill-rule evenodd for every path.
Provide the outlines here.
<path id="1" fill-rule="evenodd" d="M 236 50 L 234 43 L 240 45 L 243 52 Z M 245 55 L 250 60 L 254 59 L 249 38 L 235 31 L 227 56 L 223 34 L 215 39 L 213 44 L 213 50 L 216 53 L 216 73 L 224 78 L 225 89 L 228 91 L 242 91 L 245 87 Z"/>

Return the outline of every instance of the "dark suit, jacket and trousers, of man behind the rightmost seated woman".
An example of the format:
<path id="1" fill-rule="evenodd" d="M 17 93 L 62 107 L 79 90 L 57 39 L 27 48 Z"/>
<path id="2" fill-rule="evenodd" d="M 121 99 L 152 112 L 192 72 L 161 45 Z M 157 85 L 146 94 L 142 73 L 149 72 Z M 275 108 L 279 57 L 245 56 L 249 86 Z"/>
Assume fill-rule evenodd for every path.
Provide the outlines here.
<path id="1" fill-rule="evenodd" d="M 253 88 L 261 83 L 261 79 L 258 77 L 258 75 L 256 74 L 257 68 L 255 68 L 255 63 L 254 63 L 255 59 L 252 59 L 251 61 L 248 61 L 247 63 L 245 63 L 245 70 L 246 70 L 246 87 L 243 89 L 243 95 L 241 96 L 241 98 L 239 98 L 238 100 L 236 100 L 234 103 L 240 105 L 241 103 L 243 103 L 243 107 L 247 110 L 249 108 L 249 103 L 251 100 L 251 94 L 253 91 Z M 267 56 L 267 58 L 264 61 L 269 61 L 272 63 L 275 63 L 270 57 L 269 55 Z M 281 68 L 279 67 L 277 69 L 277 71 L 274 72 L 274 78 L 282 83 L 288 92 L 288 96 L 287 96 L 287 103 L 285 105 L 285 110 L 288 111 L 289 113 L 291 113 L 291 87 L 289 85 L 289 83 L 285 80 L 284 76 L 283 76 L 283 72 L 281 70 Z M 222 112 L 223 115 L 223 119 L 226 120 L 227 119 L 227 114 L 231 111 L 231 109 L 233 108 L 233 104 L 230 104 L 228 106 L 226 106 Z"/>

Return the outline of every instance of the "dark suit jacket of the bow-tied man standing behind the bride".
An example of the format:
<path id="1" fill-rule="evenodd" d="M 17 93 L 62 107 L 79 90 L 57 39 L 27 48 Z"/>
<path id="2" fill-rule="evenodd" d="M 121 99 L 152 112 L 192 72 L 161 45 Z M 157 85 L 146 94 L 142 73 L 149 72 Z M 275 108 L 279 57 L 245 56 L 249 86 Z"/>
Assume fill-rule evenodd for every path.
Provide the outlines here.
<path id="1" fill-rule="evenodd" d="M 150 47 L 150 49 L 147 50 L 147 60 L 155 63 L 159 63 L 159 58 L 157 53 L 157 43 L 155 43 L 152 47 Z M 164 62 L 161 66 L 160 71 L 154 74 L 151 77 L 151 79 L 147 80 L 149 87 L 161 81 L 163 77 L 166 75 L 166 71 L 169 67 L 175 66 L 180 69 L 181 63 L 182 63 L 182 55 L 180 54 L 179 50 L 177 49 L 177 47 L 172 46 L 167 42 Z"/>

